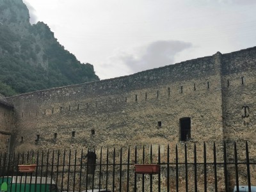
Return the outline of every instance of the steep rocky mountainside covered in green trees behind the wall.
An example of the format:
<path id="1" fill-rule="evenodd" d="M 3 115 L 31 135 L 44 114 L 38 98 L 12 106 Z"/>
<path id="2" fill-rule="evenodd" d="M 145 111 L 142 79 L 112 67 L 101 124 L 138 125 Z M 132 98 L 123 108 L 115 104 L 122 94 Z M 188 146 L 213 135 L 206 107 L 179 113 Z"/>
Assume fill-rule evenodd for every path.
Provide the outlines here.
<path id="1" fill-rule="evenodd" d="M 6 96 L 97 81 L 44 24 L 29 23 L 22 0 L 0 0 L 0 93 Z"/>

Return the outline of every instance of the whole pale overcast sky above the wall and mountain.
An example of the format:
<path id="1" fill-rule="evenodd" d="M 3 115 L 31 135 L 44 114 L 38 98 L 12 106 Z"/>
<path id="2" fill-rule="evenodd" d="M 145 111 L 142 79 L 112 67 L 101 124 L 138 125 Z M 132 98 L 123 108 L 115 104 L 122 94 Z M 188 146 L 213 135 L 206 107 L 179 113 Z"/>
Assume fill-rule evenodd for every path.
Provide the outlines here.
<path id="1" fill-rule="evenodd" d="M 100 79 L 256 46 L 256 0 L 23 0 Z"/>

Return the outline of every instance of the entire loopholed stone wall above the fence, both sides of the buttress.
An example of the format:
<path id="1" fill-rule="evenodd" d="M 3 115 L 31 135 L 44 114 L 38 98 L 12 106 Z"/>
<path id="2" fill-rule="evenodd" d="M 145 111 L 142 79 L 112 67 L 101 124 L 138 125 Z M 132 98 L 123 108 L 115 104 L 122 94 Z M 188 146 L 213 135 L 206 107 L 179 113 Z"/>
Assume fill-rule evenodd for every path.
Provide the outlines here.
<path id="1" fill-rule="evenodd" d="M 1 148 L 6 139 L 15 151 L 253 143 L 255 100 L 256 47 L 217 52 L 131 76 L 1 97 Z"/>

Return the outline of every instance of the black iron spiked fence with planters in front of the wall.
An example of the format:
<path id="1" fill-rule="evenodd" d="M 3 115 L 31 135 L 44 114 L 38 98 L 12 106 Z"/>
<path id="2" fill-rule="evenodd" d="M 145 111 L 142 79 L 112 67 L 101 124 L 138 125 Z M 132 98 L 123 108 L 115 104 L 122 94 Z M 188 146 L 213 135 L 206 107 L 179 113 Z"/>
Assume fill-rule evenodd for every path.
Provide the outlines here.
<path id="1" fill-rule="evenodd" d="M 241 186 L 252 191 L 255 155 L 249 156 L 247 142 L 2 153 L 0 185 L 6 182 L 10 191 L 29 192 L 56 187 L 59 191 L 233 191 L 235 186 L 237 191 Z M 19 170 L 21 164 L 25 170 Z M 29 164 L 35 168 L 29 170 Z M 137 164 L 157 165 L 160 170 L 137 170 Z"/>

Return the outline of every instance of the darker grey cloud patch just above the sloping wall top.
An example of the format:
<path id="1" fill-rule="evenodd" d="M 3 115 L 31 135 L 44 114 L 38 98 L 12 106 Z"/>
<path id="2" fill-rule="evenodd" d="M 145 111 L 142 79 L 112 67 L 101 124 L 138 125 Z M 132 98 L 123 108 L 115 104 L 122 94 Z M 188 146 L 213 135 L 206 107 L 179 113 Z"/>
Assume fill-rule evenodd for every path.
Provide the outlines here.
<path id="1" fill-rule="evenodd" d="M 141 47 L 134 54 L 122 54 L 120 60 L 132 72 L 150 68 L 162 67 L 173 63 L 175 55 L 184 49 L 192 47 L 191 43 L 182 41 L 157 41 L 146 47 Z"/>

